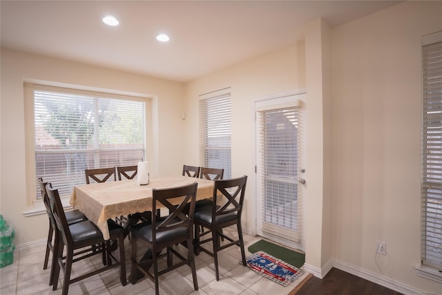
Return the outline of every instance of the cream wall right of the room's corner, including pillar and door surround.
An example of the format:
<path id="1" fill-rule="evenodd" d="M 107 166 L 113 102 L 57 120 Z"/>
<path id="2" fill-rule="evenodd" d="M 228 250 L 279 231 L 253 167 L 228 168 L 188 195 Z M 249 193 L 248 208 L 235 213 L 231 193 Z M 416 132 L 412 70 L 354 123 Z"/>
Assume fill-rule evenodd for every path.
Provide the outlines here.
<path id="1" fill-rule="evenodd" d="M 307 88 L 306 263 L 324 272 L 338 262 L 407 292 L 442 294 L 414 270 L 421 253 L 421 36 L 442 30 L 441 12 L 441 1 L 407 1 L 338 28 L 313 21 L 294 46 L 186 84 L 185 162 L 199 159 L 198 95 L 231 87 L 233 175 L 253 176 L 253 97 Z M 247 229 L 256 196 L 250 180 Z M 387 242 L 381 269 L 377 240 Z"/>

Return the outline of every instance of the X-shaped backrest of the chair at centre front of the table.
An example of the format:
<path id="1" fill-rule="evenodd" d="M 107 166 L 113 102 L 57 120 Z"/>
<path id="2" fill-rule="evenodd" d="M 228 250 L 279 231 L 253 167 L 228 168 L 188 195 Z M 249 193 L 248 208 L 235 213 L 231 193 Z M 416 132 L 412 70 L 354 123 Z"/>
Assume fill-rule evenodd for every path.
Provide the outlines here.
<path id="1" fill-rule="evenodd" d="M 169 189 L 152 189 L 152 211 L 160 207 L 169 209 L 169 216 L 158 218 L 152 214 L 152 239 L 157 240 L 157 234 L 162 231 L 171 231 L 183 228 L 188 234 L 193 231 L 193 213 L 195 213 L 196 190 L 198 183 L 173 187 Z M 184 213 L 186 204 L 190 204 L 189 213 Z M 158 218 L 158 219 L 157 219 Z"/>

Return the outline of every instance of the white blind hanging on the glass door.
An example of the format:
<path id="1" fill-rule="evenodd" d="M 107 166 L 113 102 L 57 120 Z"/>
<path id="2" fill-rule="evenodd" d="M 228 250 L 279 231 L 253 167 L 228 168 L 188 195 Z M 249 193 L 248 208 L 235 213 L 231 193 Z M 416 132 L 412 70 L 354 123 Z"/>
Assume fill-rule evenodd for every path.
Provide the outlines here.
<path id="1" fill-rule="evenodd" d="M 299 107 L 258 112 L 258 177 L 262 231 L 300 241 L 298 233 Z"/>

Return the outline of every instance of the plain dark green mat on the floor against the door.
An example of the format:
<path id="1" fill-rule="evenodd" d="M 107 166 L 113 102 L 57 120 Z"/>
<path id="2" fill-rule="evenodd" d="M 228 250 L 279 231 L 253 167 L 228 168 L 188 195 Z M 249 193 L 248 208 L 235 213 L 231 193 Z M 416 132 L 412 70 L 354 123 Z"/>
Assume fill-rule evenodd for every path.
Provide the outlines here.
<path id="1" fill-rule="evenodd" d="M 267 240 L 258 240 L 258 242 L 250 245 L 248 250 L 250 253 L 265 251 L 265 253 L 279 258 L 285 263 L 289 263 L 289 265 L 293 265 L 294 267 L 298 268 L 302 267 L 302 265 L 305 263 L 305 254 L 291 251 L 290 249 L 281 247 L 280 245 L 267 242 Z"/>

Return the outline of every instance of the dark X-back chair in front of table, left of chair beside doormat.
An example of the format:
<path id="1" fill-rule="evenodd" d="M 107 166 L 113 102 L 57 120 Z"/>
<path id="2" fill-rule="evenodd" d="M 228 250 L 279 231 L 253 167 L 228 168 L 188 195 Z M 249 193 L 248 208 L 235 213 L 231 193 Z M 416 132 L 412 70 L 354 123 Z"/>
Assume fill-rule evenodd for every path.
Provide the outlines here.
<path id="1" fill-rule="evenodd" d="M 166 207 L 170 215 L 157 218 L 152 216 L 151 222 L 143 222 L 131 227 L 131 283 L 137 281 L 137 272 L 141 271 L 155 282 L 155 294 L 160 294 L 159 276 L 171 272 L 182 265 L 191 267 L 193 277 L 193 287 L 198 290 L 198 280 L 196 276 L 195 259 L 193 256 L 193 213 L 195 211 L 195 198 L 198 183 L 193 183 L 184 187 L 174 187 L 169 189 L 153 189 L 152 205 L 153 211 L 157 207 Z M 190 211 L 185 214 L 182 209 L 187 203 L 191 204 Z M 151 251 L 151 260 L 137 260 L 137 247 L 142 242 Z M 175 245 L 185 242 L 188 245 L 187 254 L 181 254 L 175 249 Z M 161 251 L 166 249 L 165 254 Z M 185 255 L 186 257 L 184 257 Z M 166 265 L 160 269 L 159 259 L 166 256 Z M 173 262 L 173 257 L 179 259 Z M 146 265 L 153 265 L 149 271 Z"/>

